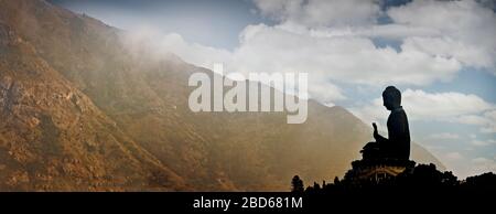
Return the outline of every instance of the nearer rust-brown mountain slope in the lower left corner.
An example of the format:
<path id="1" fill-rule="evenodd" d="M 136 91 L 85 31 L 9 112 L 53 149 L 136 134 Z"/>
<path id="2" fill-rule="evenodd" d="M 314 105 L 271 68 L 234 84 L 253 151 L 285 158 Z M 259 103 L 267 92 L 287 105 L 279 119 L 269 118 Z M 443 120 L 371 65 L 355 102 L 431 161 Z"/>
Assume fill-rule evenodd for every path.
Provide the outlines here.
<path id="1" fill-rule="evenodd" d="M 1 22 L 0 58 L 0 190 L 185 188 Z"/>

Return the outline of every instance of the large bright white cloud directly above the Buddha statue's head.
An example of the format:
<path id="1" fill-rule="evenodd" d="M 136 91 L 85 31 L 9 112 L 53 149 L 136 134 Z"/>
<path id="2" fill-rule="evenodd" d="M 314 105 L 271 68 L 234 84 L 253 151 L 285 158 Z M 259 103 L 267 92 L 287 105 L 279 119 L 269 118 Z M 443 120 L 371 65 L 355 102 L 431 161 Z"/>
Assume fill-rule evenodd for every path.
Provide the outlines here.
<path id="1" fill-rule="evenodd" d="M 304 71 L 320 79 L 365 85 L 425 85 L 450 79 L 461 68 L 455 58 L 432 56 L 409 43 L 397 52 L 378 49 L 368 38 L 322 36 L 316 32 L 292 24 L 247 26 L 240 35 L 240 46 L 233 53 L 231 68 Z"/>

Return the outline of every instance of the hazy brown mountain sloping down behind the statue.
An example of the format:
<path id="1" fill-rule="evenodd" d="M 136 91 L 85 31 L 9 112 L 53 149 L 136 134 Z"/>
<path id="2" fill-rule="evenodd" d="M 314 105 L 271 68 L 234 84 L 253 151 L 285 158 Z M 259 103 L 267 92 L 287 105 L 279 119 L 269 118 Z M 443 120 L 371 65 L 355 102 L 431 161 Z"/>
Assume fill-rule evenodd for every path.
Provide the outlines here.
<path id="1" fill-rule="evenodd" d="M 368 142 L 346 109 L 192 113 L 192 73 L 129 32 L 42 0 L 0 0 L 0 190 L 288 190 L 342 175 Z M 441 163 L 420 146 L 419 162 Z"/>

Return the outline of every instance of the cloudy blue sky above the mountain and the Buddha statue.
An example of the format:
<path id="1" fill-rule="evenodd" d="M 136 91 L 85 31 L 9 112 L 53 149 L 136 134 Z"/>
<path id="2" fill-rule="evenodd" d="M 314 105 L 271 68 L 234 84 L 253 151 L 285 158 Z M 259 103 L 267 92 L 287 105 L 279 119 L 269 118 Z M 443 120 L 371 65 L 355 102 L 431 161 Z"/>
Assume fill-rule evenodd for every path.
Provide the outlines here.
<path id="1" fill-rule="evenodd" d="M 412 140 L 459 178 L 496 172 L 495 0 L 51 0 L 227 72 L 306 72 L 310 96 Z"/>

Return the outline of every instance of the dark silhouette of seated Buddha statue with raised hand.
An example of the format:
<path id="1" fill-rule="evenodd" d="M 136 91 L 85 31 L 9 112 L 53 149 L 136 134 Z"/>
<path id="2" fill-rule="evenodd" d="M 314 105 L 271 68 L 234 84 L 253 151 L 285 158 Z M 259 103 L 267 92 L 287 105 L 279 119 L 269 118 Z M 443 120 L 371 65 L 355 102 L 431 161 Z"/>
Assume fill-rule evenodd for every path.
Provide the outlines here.
<path id="1" fill-rule="evenodd" d="M 375 142 L 367 143 L 360 151 L 364 160 L 398 159 L 409 160 L 410 130 L 408 118 L 401 107 L 401 93 L 395 86 L 388 86 L 382 93 L 384 106 L 390 110 L 388 117 L 388 138 L 379 135 L 373 122 Z"/>

